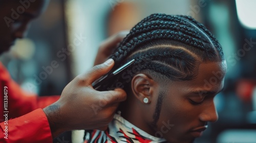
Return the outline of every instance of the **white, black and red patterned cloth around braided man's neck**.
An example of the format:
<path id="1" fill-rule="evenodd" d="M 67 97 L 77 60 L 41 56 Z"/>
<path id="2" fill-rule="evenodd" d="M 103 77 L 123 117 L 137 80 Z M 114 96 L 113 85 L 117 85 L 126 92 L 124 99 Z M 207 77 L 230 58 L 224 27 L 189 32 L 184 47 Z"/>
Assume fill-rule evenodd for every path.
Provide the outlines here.
<path id="1" fill-rule="evenodd" d="M 84 143 L 89 142 L 167 142 L 164 138 L 152 136 L 137 128 L 122 116 L 115 114 L 113 121 L 106 131 L 92 130 L 85 133 Z"/>

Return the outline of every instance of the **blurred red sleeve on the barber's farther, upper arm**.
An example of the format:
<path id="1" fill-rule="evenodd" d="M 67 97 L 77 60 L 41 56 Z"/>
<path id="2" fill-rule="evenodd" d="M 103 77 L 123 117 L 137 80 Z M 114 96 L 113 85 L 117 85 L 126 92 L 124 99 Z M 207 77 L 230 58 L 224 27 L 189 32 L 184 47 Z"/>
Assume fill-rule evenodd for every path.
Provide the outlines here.
<path id="1" fill-rule="evenodd" d="M 34 83 L 31 83 L 34 84 Z M 35 85 L 33 85 L 35 86 Z M 6 92 L 4 92 L 6 87 Z M 36 94 L 32 94 L 24 91 L 19 85 L 14 82 L 7 69 L 0 62 L 0 105 L 4 103 L 4 96 L 7 94 L 8 98 L 8 111 L 10 113 L 9 118 L 15 118 L 24 114 L 27 114 L 38 108 L 45 108 L 46 106 L 56 102 L 60 96 L 51 97 L 38 97 Z M 0 122 L 3 120 L 4 106 L 0 107 Z"/>

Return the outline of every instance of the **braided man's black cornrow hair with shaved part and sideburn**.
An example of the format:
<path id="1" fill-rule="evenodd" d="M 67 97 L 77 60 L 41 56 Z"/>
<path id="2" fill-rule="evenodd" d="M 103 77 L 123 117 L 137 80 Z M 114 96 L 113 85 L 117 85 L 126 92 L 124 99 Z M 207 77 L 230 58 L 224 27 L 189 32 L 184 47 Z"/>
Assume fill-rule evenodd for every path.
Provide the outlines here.
<path id="1" fill-rule="evenodd" d="M 110 58 L 115 60 L 113 70 L 135 59 L 132 67 L 104 85 L 105 89 L 122 87 L 127 93 L 136 73 L 144 71 L 156 78 L 186 81 L 196 78 L 200 63 L 224 60 L 221 45 L 201 23 L 190 16 L 166 14 L 152 14 L 140 21 Z M 134 67 L 136 70 L 132 70 Z M 130 78 L 125 78 L 127 74 Z M 159 98 L 161 102 L 162 96 Z M 161 106 L 157 106 L 156 112 L 160 110 Z M 158 118 L 155 113 L 154 122 Z"/>

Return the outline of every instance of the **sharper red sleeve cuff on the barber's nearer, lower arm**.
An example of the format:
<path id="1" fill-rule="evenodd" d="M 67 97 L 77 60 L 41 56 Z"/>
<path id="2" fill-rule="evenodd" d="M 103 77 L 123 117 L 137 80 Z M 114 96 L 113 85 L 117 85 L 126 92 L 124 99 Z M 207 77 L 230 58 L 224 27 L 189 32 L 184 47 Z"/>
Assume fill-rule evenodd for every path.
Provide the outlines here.
<path id="1" fill-rule="evenodd" d="M 42 109 L 5 120 L 0 126 L 0 142 L 52 142 L 49 123 Z"/>

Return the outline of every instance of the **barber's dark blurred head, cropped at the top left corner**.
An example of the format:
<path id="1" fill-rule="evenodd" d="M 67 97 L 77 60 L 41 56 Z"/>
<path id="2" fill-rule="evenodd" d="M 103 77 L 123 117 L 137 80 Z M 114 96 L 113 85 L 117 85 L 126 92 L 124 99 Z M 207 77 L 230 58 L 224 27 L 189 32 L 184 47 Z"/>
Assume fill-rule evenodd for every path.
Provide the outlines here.
<path id="1" fill-rule="evenodd" d="M 32 19 L 38 17 L 49 0 L 0 0 L 0 54 L 23 38 Z"/>

